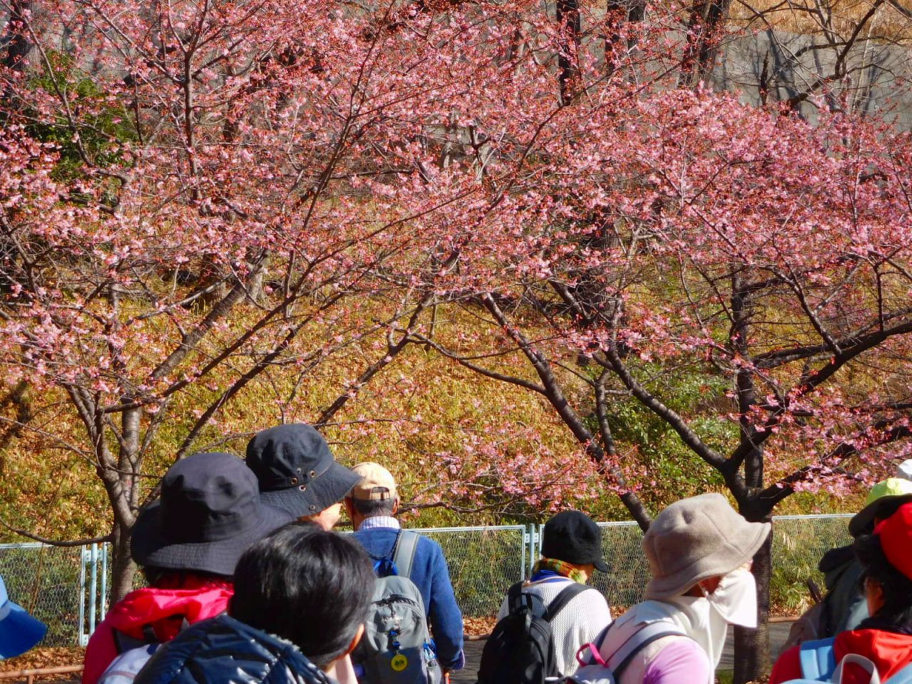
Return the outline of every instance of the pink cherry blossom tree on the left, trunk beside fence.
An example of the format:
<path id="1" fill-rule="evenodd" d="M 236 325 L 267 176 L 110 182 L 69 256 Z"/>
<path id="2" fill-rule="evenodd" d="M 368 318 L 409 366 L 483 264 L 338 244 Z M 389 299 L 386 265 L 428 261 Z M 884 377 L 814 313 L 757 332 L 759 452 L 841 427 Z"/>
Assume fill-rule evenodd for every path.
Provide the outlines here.
<path id="1" fill-rule="evenodd" d="M 77 443 L 40 430 L 103 483 L 116 598 L 163 426 L 182 426 L 181 458 L 265 372 L 297 378 L 290 400 L 357 350 L 322 425 L 405 346 L 429 295 L 385 271 L 420 257 L 409 222 L 451 198 L 402 200 L 385 157 L 426 144 L 402 112 L 462 91 L 435 46 L 384 45 L 389 7 L 35 5 L 7 26 L 0 353 L 11 387 L 81 423 Z"/>

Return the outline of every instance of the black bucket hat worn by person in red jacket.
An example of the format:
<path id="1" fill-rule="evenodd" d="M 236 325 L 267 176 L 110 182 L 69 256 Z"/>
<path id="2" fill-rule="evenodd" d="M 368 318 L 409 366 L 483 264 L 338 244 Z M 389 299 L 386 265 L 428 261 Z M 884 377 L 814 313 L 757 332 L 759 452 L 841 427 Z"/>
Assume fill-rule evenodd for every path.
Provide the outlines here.
<path id="1" fill-rule="evenodd" d="M 290 521 L 260 501 L 244 461 L 195 453 L 161 478 L 161 499 L 133 525 L 130 554 L 140 565 L 233 575 L 248 546 Z"/>

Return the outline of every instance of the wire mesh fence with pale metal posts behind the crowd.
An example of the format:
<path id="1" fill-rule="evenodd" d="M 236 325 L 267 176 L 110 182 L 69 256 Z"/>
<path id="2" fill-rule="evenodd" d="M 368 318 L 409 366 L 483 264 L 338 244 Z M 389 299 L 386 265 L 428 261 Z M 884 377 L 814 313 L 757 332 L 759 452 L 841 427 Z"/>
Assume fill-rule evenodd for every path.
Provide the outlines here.
<path id="1" fill-rule="evenodd" d="M 817 561 L 827 549 L 851 542 L 851 515 L 781 515 L 772 520 L 771 602 L 799 612 L 807 579 L 823 586 Z M 608 572 L 593 584 L 610 606 L 640 600 L 649 568 L 633 522 L 599 523 Z M 453 589 L 468 617 L 496 614 L 503 595 L 527 577 L 541 549 L 544 525 L 433 527 L 416 530 L 443 548 Z M 0 575 L 17 603 L 47 623 L 46 646 L 85 645 L 108 608 L 108 544 L 63 548 L 0 544 Z"/>

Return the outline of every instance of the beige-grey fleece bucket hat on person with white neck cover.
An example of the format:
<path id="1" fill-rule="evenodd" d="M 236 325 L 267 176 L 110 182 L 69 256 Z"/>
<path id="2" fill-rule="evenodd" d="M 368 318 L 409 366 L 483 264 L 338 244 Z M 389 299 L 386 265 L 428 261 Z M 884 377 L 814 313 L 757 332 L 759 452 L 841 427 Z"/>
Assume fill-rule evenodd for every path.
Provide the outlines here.
<path id="1" fill-rule="evenodd" d="M 721 494 L 672 503 L 643 536 L 652 572 L 646 598 L 680 596 L 700 580 L 731 573 L 760 550 L 771 528 L 748 523 Z"/>

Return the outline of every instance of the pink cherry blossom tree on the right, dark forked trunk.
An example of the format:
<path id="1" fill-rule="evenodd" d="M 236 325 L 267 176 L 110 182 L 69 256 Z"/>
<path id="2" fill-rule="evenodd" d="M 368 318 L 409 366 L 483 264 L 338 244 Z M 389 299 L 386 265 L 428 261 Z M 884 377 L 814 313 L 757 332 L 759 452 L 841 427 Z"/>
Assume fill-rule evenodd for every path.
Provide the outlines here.
<path id="1" fill-rule="evenodd" d="M 622 400 L 667 423 L 749 520 L 879 477 L 910 448 L 909 135 L 701 90 L 634 108 L 580 101 L 514 198 L 522 219 L 475 231 L 464 277 L 435 278 L 495 342 L 419 341 L 543 397 L 644 527 L 637 492 L 655 476 L 614 437 Z M 511 355 L 529 374 L 503 371 Z M 693 376 L 701 407 L 673 409 Z M 769 554 L 754 559 L 762 623 Z M 754 679 L 765 633 L 736 636 L 736 680 Z"/>

